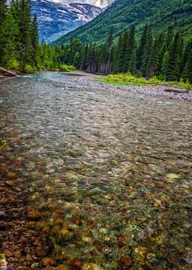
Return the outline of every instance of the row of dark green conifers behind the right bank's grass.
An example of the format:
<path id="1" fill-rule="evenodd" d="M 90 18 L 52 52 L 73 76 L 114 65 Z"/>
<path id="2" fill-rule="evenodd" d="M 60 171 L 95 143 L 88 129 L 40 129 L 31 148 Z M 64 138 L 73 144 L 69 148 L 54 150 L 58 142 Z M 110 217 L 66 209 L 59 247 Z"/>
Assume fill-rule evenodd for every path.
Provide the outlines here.
<path id="1" fill-rule="evenodd" d="M 61 50 L 61 61 L 79 70 L 102 74 L 131 72 L 147 78 L 157 75 L 167 81 L 183 79 L 192 83 L 192 39 L 184 41 L 182 30 L 174 32 L 169 28 L 167 33 L 154 38 L 152 26 L 147 23 L 137 42 L 132 26 L 119 37 L 117 44 L 113 44 L 110 28 L 107 43 L 84 45 L 71 39 Z"/>

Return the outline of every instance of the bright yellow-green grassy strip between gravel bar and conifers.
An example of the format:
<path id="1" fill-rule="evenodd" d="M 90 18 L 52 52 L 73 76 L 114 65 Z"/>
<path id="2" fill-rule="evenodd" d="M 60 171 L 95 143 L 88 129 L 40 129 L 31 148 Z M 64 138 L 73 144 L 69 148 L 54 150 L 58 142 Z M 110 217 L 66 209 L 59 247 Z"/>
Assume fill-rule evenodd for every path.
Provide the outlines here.
<path id="1" fill-rule="evenodd" d="M 163 79 L 158 79 L 154 76 L 152 79 L 146 80 L 143 77 L 136 77 L 132 74 L 128 73 L 121 73 L 121 74 L 109 74 L 102 79 L 98 79 L 97 81 L 101 81 L 106 84 L 112 85 L 163 85 L 167 84 L 171 87 L 180 86 L 184 89 L 192 88 L 192 85 L 189 82 L 184 82 L 182 80 L 178 81 L 165 81 Z"/>

